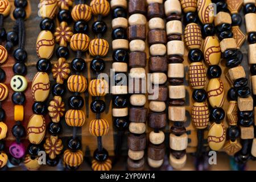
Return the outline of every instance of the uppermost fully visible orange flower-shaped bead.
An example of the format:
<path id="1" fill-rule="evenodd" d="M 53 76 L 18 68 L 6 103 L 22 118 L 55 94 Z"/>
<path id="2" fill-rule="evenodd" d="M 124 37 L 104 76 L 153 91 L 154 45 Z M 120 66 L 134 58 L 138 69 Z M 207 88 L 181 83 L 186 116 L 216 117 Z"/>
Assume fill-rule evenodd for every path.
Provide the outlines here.
<path id="1" fill-rule="evenodd" d="M 60 26 L 56 28 L 54 35 L 56 42 L 60 46 L 67 47 L 67 42 L 70 42 L 73 32 L 71 27 L 68 27 L 67 22 L 61 22 Z"/>

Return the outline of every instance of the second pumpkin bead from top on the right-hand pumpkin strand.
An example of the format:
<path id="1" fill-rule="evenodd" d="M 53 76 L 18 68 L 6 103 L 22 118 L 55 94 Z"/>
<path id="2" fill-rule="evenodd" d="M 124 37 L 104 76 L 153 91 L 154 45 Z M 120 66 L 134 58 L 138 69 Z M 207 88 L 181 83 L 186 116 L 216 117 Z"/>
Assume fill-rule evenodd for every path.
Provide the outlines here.
<path id="1" fill-rule="evenodd" d="M 93 39 L 89 45 L 89 52 L 92 56 L 104 57 L 109 51 L 109 43 L 104 39 Z"/>

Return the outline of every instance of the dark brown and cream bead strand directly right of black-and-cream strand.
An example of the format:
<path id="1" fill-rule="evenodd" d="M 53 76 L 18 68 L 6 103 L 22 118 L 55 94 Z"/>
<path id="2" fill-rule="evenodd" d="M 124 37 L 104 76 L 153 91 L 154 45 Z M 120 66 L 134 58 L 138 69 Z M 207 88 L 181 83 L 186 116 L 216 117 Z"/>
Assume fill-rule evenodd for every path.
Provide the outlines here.
<path id="1" fill-rule="evenodd" d="M 144 150 L 147 144 L 146 138 L 146 121 L 147 108 L 144 107 L 143 101 L 146 102 L 146 0 L 129 0 L 129 135 L 128 135 L 128 160 L 127 166 L 130 171 L 144 169 Z M 134 100 L 141 102 L 135 103 Z"/>

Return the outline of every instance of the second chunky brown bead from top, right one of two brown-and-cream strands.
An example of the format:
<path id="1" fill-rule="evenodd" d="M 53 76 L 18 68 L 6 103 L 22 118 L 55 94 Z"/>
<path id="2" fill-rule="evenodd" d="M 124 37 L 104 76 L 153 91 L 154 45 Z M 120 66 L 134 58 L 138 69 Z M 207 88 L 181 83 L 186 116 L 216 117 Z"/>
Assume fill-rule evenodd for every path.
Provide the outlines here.
<path id="1" fill-rule="evenodd" d="M 166 31 L 151 30 L 148 32 L 148 44 L 166 44 Z"/>

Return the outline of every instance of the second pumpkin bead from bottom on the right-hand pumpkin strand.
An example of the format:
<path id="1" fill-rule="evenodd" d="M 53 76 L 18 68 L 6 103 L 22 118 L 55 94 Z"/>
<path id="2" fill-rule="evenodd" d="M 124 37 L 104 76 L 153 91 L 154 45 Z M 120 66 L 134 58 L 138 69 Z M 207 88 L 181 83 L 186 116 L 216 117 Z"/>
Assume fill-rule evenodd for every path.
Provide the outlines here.
<path id="1" fill-rule="evenodd" d="M 90 122 L 89 131 L 93 136 L 101 137 L 108 134 L 109 123 L 106 121 L 106 119 L 93 119 Z"/>

